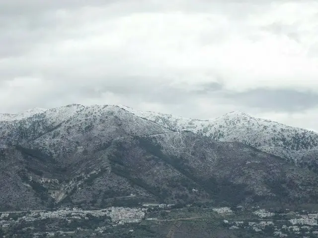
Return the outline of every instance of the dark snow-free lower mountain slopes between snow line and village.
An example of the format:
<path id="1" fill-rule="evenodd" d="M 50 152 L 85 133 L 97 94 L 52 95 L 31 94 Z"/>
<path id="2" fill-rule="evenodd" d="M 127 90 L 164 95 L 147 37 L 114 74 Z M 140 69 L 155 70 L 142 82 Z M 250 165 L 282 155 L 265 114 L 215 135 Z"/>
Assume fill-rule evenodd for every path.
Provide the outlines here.
<path id="1" fill-rule="evenodd" d="M 140 202 L 215 205 L 315 203 L 318 176 L 237 142 L 191 132 L 113 139 L 59 157 L 15 147 L 0 158 L 1 207 L 85 209 Z M 26 194 L 26 199 L 20 195 Z"/>

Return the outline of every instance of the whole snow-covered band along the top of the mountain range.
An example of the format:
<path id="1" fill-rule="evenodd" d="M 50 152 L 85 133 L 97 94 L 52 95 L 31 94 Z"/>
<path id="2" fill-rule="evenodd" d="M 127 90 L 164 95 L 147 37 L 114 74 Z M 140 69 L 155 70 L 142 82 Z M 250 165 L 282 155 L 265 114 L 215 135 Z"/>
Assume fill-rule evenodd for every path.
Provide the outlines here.
<path id="1" fill-rule="evenodd" d="M 126 134 L 156 134 L 161 130 L 159 125 L 162 126 L 160 128 L 165 128 L 165 132 L 189 130 L 212 137 L 217 141 L 242 142 L 296 164 L 308 164 L 306 160 L 309 157 L 311 162 L 315 161 L 313 153 L 318 151 L 318 133 L 267 119 L 254 118 L 242 112 L 231 112 L 217 119 L 200 120 L 137 111 L 126 106 L 82 106 L 78 104 L 50 110 L 34 109 L 15 115 L 0 115 L 0 121 L 2 121 L 0 123 L 0 145 L 5 143 L 4 140 L 7 140 L 5 138 L 10 138 L 9 141 L 13 143 L 14 141 L 34 140 L 39 137 L 41 143 L 53 143 L 57 134 L 64 134 L 62 138 L 66 138 L 66 141 L 70 137 L 79 139 L 81 131 L 89 129 L 89 127 L 106 128 L 107 123 L 107 131 L 109 131 L 109 126 L 113 122 L 105 120 L 108 114 L 111 114 L 113 119 L 120 124 L 136 120 L 135 117 L 132 117 L 133 115 L 139 118 L 140 121 L 133 122 L 131 127 L 127 128 Z M 141 123 L 141 121 L 143 122 Z M 143 123 L 151 123 L 151 121 L 155 122 L 152 124 L 155 129 L 144 131 L 146 127 Z M 151 127 L 147 126 L 147 128 Z M 92 130 L 91 136 L 102 140 L 105 137 L 104 132 L 105 130 L 95 129 Z"/>

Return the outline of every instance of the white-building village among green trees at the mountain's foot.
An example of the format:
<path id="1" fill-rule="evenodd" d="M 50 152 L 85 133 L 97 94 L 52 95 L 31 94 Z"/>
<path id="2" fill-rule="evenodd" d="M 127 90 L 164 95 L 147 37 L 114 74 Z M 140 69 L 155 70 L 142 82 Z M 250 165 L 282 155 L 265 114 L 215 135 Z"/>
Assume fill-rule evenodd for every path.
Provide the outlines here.
<path id="1" fill-rule="evenodd" d="M 148 223 L 160 223 L 161 221 L 192 220 L 192 219 L 219 219 L 223 226 L 229 230 L 250 230 L 254 233 L 269 232 L 273 237 L 289 237 L 294 234 L 296 237 L 316 237 L 318 235 L 318 212 L 310 213 L 303 211 L 276 214 L 259 207 L 252 208 L 249 215 L 244 212 L 243 207 L 233 211 L 229 207 L 215 208 L 174 208 L 171 204 L 143 204 L 141 207 L 109 207 L 101 210 L 82 210 L 79 208 L 61 208 L 55 211 L 21 211 L 21 212 L 2 212 L 0 213 L 0 228 L 6 229 L 12 224 L 29 224 L 36 221 L 46 221 L 56 219 L 66 221 L 66 227 L 59 227 L 57 231 L 47 231 L 46 236 L 54 237 L 59 234 L 70 234 L 76 231 L 85 231 L 87 228 L 74 227 L 74 231 L 67 229 L 67 224 L 79 221 L 103 221 L 104 225 L 94 227 L 96 233 L 104 233 L 109 227 L 123 226 L 125 224 L 138 224 L 143 221 Z M 188 211 L 195 210 L 191 215 Z M 201 215 L 199 216 L 198 214 Z M 196 215 L 194 215 L 196 214 Z M 249 217 L 249 218 L 248 218 Z M 98 220 L 99 219 L 99 220 Z M 80 224 L 80 223 L 77 223 Z M 35 229 L 35 228 L 32 228 Z M 36 230 L 36 229 L 35 229 Z M 131 230 L 133 233 L 133 229 Z M 40 236 L 41 232 L 33 233 L 34 237 Z M 302 236 L 304 235 L 304 236 Z"/>

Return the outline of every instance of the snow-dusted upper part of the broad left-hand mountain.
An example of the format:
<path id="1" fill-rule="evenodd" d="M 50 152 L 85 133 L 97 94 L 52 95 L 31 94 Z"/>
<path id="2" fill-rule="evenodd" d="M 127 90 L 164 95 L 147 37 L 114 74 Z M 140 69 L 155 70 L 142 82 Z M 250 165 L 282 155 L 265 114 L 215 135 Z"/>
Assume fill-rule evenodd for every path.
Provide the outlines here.
<path id="1" fill-rule="evenodd" d="M 32 110 L 35 112 L 35 110 Z M 29 111 L 28 111 L 29 112 Z M 111 105 L 82 106 L 72 104 L 30 114 L 21 113 L 0 121 L 0 145 L 33 143 L 46 148 L 56 146 L 65 149 L 100 143 L 116 137 L 153 135 L 172 132 L 148 119 Z"/>

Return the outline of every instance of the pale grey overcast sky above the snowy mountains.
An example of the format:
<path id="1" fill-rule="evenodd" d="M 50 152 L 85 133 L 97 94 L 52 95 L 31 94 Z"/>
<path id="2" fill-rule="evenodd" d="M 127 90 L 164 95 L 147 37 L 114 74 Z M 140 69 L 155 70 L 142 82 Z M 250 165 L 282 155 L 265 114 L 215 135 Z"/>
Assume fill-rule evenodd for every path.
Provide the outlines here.
<path id="1" fill-rule="evenodd" d="M 0 113 L 72 103 L 318 131 L 318 1 L 0 0 Z"/>

